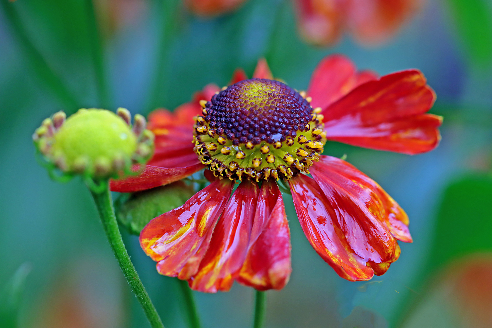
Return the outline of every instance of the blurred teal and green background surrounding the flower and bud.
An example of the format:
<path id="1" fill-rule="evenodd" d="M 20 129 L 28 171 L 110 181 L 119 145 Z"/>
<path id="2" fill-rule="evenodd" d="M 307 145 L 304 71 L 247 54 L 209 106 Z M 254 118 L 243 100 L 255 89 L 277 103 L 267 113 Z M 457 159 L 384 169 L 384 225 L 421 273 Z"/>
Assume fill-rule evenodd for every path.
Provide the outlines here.
<path id="1" fill-rule="evenodd" d="M 201 19 L 177 0 L 95 0 L 102 59 L 84 1 L 0 2 L 0 326 L 148 327 L 84 184 L 56 183 L 36 163 L 31 134 L 42 119 L 83 107 L 174 109 L 208 83 L 226 85 L 236 67 L 252 74 L 260 57 L 307 89 L 317 62 L 342 53 L 381 75 L 419 68 L 437 93 L 442 142 L 430 153 L 325 148 L 400 203 L 414 242 L 400 243 L 383 276 L 345 281 L 313 251 L 284 195 L 293 272 L 268 292 L 265 326 L 492 327 L 491 1 L 428 0 L 383 45 L 344 37 L 315 48 L 299 38 L 289 1 L 250 0 Z M 123 234 L 164 325 L 186 327 L 175 278 Z M 252 289 L 194 295 L 204 327 L 251 325 Z"/>

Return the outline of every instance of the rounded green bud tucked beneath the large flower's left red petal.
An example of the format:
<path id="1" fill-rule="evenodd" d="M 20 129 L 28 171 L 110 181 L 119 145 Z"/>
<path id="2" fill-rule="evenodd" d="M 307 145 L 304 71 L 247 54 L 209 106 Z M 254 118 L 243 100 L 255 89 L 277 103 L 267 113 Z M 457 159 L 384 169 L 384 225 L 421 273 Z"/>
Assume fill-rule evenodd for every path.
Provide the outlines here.
<path id="1" fill-rule="evenodd" d="M 192 186 L 178 181 L 142 192 L 123 194 L 115 202 L 116 217 L 131 234 L 138 236 L 150 220 L 180 207 L 194 193 Z"/>

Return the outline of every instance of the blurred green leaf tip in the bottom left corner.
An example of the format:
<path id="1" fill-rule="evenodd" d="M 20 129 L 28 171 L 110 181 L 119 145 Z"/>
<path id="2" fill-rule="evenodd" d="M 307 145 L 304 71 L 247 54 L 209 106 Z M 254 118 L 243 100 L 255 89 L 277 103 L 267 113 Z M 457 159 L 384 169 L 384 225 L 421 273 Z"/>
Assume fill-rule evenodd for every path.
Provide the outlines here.
<path id="1" fill-rule="evenodd" d="M 24 263 L 7 282 L 0 295 L 0 327 L 18 327 L 17 317 L 21 306 L 22 293 L 31 265 Z"/>

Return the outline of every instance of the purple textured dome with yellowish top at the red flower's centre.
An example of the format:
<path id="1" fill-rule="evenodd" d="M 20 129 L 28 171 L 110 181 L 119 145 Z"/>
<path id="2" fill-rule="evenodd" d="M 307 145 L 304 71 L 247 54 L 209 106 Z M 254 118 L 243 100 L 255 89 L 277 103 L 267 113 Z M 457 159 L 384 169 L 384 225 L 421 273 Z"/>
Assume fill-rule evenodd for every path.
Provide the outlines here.
<path id="1" fill-rule="evenodd" d="M 234 145 L 274 143 L 307 131 L 312 108 L 299 92 L 267 79 L 250 79 L 222 90 L 207 103 L 205 120 Z"/>

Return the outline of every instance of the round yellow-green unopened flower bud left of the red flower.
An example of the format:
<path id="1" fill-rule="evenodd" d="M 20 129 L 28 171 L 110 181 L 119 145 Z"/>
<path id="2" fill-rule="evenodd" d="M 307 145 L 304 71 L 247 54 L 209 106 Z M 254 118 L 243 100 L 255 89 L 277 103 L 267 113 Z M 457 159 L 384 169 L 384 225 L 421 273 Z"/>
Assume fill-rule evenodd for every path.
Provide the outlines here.
<path id="1" fill-rule="evenodd" d="M 65 119 L 58 112 L 36 129 L 33 140 L 45 159 L 65 174 L 93 179 L 122 178 L 134 163 L 147 162 L 154 151 L 154 135 L 146 121 L 128 110 L 80 109 Z"/>

